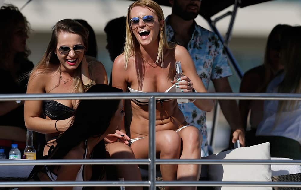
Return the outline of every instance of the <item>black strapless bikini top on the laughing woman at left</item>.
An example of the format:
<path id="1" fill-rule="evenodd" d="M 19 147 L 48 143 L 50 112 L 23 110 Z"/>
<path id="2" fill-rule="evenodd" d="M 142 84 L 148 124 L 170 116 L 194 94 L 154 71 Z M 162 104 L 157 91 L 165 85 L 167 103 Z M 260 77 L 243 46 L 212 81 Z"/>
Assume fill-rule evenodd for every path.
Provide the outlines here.
<path id="1" fill-rule="evenodd" d="M 74 115 L 74 109 L 54 100 L 44 100 L 43 113 L 52 120 L 64 120 Z"/>

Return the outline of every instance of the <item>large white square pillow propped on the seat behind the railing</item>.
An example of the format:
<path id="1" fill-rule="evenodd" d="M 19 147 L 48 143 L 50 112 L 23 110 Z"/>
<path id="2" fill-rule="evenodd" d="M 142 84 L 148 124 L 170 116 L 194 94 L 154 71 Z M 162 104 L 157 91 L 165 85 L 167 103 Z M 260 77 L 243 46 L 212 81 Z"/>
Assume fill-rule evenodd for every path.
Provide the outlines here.
<path id="1" fill-rule="evenodd" d="M 263 143 L 251 147 L 242 147 L 203 159 L 258 159 L 270 160 L 270 143 Z M 209 165 L 209 179 L 211 181 L 261 181 L 272 182 L 271 165 Z M 215 187 L 215 190 L 272 190 L 272 187 Z"/>

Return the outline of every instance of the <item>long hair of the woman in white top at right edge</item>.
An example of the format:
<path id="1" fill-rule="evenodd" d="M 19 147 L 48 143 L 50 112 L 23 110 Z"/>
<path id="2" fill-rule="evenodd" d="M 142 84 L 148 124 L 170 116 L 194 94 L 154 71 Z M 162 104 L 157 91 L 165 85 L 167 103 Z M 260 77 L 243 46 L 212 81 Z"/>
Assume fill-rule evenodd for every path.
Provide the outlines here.
<path id="1" fill-rule="evenodd" d="M 290 27 L 281 40 L 280 62 L 284 65 L 284 79 L 278 93 L 301 93 L 301 26 Z M 277 114 L 293 111 L 299 100 L 279 101 Z M 279 118 L 279 117 L 278 117 Z"/>

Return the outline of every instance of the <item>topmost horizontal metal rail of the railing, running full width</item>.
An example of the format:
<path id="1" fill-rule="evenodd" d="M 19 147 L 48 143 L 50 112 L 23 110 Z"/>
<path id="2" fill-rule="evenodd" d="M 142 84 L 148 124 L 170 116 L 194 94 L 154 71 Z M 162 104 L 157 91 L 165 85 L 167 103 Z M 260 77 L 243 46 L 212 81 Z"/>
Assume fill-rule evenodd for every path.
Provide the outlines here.
<path id="1" fill-rule="evenodd" d="M 300 93 L 42 93 L 42 94 L 0 94 L 0 101 L 13 100 L 96 100 L 96 99 L 139 99 L 189 98 L 219 100 L 301 100 Z"/>

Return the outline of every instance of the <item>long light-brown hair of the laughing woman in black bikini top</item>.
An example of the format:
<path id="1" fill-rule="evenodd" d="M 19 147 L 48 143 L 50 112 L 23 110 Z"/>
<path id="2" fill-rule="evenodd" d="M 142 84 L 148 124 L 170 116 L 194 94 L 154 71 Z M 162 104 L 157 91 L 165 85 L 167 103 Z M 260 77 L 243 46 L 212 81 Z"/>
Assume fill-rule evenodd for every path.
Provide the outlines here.
<path id="1" fill-rule="evenodd" d="M 57 48 L 57 36 L 60 32 L 74 33 L 82 37 L 84 42 L 85 50 L 88 49 L 88 30 L 83 27 L 79 22 L 72 19 L 64 19 L 58 21 L 52 28 L 52 35 L 48 47 L 38 64 L 32 69 L 29 75 L 38 75 L 45 72 L 51 72 L 50 65 L 57 67 L 56 71 L 61 71 L 61 64 L 54 53 Z M 34 77 L 34 76 L 33 76 Z M 73 74 L 73 89 L 72 92 L 84 92 L 82 79 L 81 79 L 81 67 L 80 65 L 75 69 Z"/>

